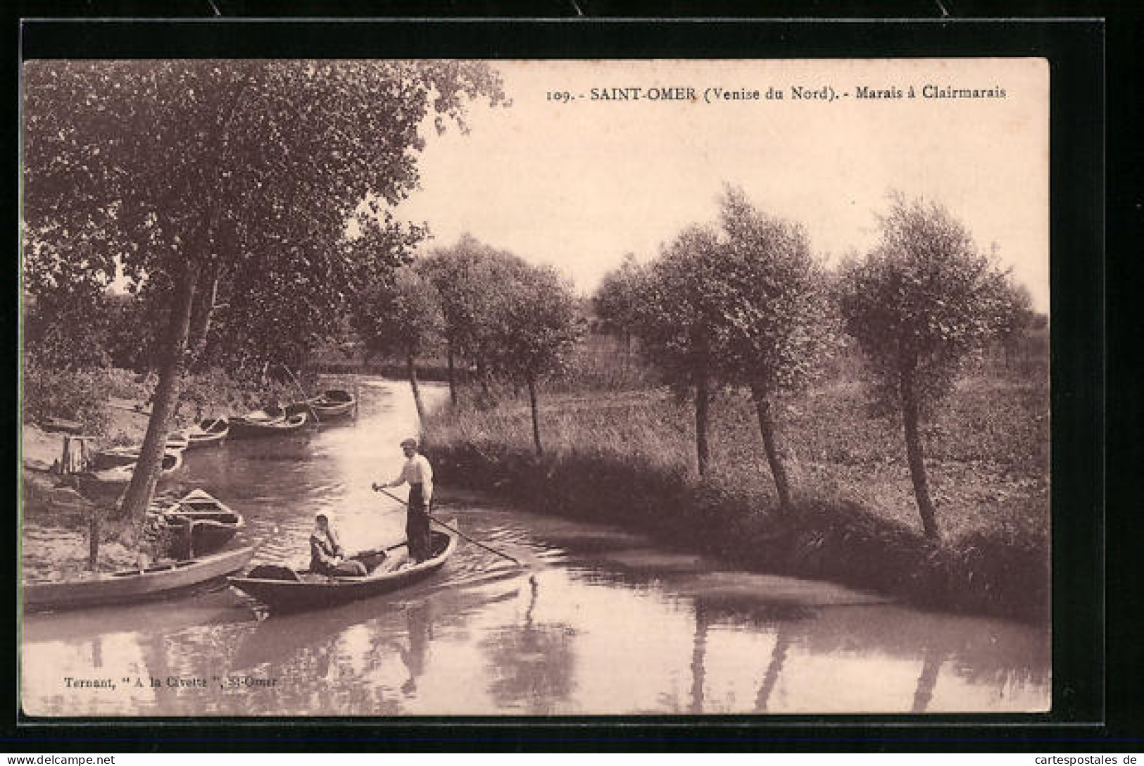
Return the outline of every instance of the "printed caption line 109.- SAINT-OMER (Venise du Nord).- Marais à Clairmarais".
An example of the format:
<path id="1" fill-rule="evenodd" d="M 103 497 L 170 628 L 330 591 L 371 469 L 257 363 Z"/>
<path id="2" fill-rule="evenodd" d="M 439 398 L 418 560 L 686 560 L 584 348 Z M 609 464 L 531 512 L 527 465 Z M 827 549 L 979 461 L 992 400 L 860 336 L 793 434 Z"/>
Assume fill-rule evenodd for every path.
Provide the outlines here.
<path id="1" fill-rule="evenodd" d="M 1000 85 L 987 87 L 975 85 L 908 85 L 900 86 L 855 86 L 851 90 L 839 93 L 832 85 L 800 85 L 788 87 L 768 86 L 766 88 L 696 88 L 692 86 L 657 86 L 657 87 L 601 87 L 589 88 L 587 93 L 571 90 L 548 90 L 546 98 L 559 103 L 573 101 L 594 102 L 704 102 L 707 104 L 782 101 L 782 102 L 834 102 L 840 98 L 858 101 L 895 101 L 906 98 L 1006 98 L 1006 89 Z"/>

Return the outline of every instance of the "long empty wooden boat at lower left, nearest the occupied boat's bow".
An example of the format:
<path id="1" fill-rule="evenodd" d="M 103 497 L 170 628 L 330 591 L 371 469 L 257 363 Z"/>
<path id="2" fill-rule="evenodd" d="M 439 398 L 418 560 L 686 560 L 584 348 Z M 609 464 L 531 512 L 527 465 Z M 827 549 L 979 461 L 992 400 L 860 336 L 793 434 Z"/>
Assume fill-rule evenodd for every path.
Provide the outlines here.
<path id="1" fill-rule="evenodd" d="M 185 561 L 160 561 L 142 573 L 126 569 L 85 580 L 26 583 L 24 607 L 43 612 L 165 598 L 205 588 L 239 572 L 253 556 L 253 548 L 238 548 Z"/>

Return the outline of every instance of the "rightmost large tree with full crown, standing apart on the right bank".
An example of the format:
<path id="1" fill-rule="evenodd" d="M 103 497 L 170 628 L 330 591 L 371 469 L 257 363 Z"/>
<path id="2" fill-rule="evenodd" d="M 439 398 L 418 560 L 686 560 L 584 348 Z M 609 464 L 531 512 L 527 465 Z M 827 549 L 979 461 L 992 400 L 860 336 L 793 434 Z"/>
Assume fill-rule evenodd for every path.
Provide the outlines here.
<path id="1" fill-rule="evenodd" d="M 1001 328 L 1014 289 L 936 204 L 897 197 L 881 225 L 881 242 L 866 258 L 843 264 L 842 312 L 869 361 L 877 399 L 901 413 L 922 527 L 938 538 L 921 422 Z"/>

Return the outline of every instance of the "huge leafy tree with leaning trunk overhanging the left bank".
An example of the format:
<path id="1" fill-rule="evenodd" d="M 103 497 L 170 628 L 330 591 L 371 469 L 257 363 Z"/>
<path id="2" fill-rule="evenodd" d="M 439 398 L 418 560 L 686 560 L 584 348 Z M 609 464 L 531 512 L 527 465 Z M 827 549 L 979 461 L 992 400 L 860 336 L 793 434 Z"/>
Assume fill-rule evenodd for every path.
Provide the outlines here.
<path id="1" fill-rule="evenodd" d="M 135 280 L 170 285 L 122 505 L 140 517 L 188 348 L 206 336 L 220 289 L 257 282 L 237 296 L 249 316 L 334 314 L 370 273 L 339 246 L 348 223 L 364 201 L 379 215 L 414 186 L 422 121 L 434 114 L 442 129 L 472 99 L 503 99 L 498 74 L 463 62 L 37 61 L 23 74 L 27 230 L 98 239 L 87 268 L 118 260 Z M 284 304 L 304 311 L 271 311 Z"/>

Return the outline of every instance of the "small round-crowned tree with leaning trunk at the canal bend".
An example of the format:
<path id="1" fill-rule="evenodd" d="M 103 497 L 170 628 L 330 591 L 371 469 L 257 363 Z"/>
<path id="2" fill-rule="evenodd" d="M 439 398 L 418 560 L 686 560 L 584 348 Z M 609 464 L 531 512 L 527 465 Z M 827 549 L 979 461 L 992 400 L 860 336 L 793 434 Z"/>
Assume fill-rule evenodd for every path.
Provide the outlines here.
<path id="1" fill-rule="evenodd" d="M 405 360 L 418 417 L 424 423 L 416 358 L 436 344 L 445 325 L 432 282 L 405 266 L 397 270 L 390 284 L 367 286 L 356 303 L 353 324 L 367 353 Z"/>

